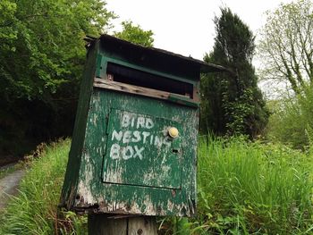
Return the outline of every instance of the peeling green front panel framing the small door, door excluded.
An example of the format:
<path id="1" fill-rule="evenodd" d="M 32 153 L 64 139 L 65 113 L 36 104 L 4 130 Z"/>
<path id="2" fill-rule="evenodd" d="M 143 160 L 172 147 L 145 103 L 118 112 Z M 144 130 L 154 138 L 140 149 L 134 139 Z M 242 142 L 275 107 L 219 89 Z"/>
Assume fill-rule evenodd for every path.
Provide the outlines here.
<path id="1" fill-rule="evenodd" d="M 112 109 L 147 114 L 182 124 L 184 137 L 180 144 L 181 189 L 103 181 L 103 166 L 106 165 L 108 157 L 106 155 L 107 130 Z M 77 200 L 74 207 L 83 210 L 89 208 L 96 213 L 182 216 L 194 214 L 198 119 L 197 108 L 174 105 L 150 97 L 95 89 L 90 100 L 85 147 L 81 156 Z M 138 173 L 135 167 L 132 173 L 134 175 Z"/>

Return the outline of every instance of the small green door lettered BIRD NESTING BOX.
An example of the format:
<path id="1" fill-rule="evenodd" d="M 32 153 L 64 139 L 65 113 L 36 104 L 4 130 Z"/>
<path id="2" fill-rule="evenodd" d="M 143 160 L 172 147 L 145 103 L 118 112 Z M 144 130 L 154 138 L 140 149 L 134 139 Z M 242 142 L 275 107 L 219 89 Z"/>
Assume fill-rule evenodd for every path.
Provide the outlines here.
<path id="1" fill-rule="evenodd" d="M 183 137 L 178 122 L 112 109 L 106 131 L 104 181 L 181 189 L 182 137 L 170 138 L 170 127 L 178 128 Z"/>

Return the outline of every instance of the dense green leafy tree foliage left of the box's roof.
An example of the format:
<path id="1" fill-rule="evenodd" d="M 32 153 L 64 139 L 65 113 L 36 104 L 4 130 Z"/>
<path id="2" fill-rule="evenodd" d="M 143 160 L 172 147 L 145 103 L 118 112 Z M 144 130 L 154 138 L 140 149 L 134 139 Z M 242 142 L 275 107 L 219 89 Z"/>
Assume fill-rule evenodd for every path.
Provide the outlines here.
<path id="1" fill-rule="evenodd" d="M 113 17 L 97 0 L 22 0 L 2 5 L 0 29 L 5 32 L 0 37 L 4 35 L 1 38 L 7 39 L 11 50 L 0 46 L 0 88 L 8 101 L 20 97 L 48 101 L 61 84 L 79 79 L 77 67 L 81 71 L 85 55 L 82 38 L 97 35 Z"/>

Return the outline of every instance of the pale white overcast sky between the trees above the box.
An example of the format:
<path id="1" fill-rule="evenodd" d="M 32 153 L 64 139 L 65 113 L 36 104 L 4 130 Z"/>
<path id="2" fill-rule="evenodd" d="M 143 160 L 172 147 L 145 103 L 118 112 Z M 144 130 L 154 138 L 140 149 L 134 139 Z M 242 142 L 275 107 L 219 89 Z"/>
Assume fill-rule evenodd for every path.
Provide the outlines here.
<path id="1" fill-rule="evenodd" d="M 266 10 L 291 0 L 106 0 L 106 7 L 120 18 L 131 20 L 154 32 L 157 48 L 202 60 L 212 50 L 215 37 L 213 19 L 220 6 L 228 6 L 257 34 L 265 23 Z"/>

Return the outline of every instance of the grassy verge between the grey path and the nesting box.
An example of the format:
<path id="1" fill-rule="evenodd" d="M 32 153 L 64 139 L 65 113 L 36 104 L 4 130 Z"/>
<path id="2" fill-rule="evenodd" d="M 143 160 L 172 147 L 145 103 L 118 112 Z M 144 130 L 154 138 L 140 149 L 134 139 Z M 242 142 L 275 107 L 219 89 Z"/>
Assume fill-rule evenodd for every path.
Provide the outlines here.
<path id="1" fill-rule="evenodd" d="M 13 197 L 1 215 L 0 234 L 87 234 L 86 217 L 58 213 L 60 192 L 70 140 L 38 147 L 39 158 L 31 159 L 30 170 L 21 181 L 20 194 Z M 29 158 L 32 158 L 30 156 Z"/>

